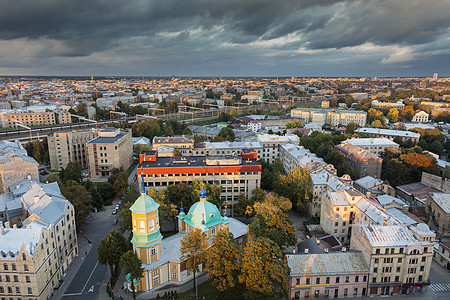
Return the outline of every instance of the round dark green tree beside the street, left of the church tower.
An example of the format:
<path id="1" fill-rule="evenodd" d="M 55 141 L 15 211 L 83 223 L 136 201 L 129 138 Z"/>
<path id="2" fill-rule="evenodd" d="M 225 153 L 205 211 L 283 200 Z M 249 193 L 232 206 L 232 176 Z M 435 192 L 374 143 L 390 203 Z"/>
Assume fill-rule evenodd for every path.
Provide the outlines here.
<path id="1" fill-rule="evenodd" d="M 118 275 L 120 258 L 127 252 L 127 249 L 128 242 L 122 233 L 112 230 L 98 245 L 98 262 L 103 265 L 109 265 L 111 276 L 115 277 Z"/>

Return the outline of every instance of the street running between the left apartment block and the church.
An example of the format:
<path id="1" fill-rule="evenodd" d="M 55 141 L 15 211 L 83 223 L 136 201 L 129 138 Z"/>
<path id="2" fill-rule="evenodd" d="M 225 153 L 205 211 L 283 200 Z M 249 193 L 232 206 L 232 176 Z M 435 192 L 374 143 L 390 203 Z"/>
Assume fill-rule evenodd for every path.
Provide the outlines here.
<path id="1" fill-rule="evenodd" d="M 105 211 L 91 213 L 87 218 L 87 224 L 79 228 L 83 232 L 83 235 L 78 234 L 79 256 L 69 268 L 64 283 L 55 292 L 54 299 L 96 300 L 102 298 L 100 291 L 101 288 L 105 289 L 102 282 L 109 267 L 98 263 L 96 249 L 100 240 L 112 229 L 117 228 L 117 225 L 112 225 L 113 220 L 117 218 L 117 215 L 112 215 L 117 201 L 118 198 L 114 200 L 113 205 L 106 207 Z M 77 267 L 78 270 L 75 270 Z"/>

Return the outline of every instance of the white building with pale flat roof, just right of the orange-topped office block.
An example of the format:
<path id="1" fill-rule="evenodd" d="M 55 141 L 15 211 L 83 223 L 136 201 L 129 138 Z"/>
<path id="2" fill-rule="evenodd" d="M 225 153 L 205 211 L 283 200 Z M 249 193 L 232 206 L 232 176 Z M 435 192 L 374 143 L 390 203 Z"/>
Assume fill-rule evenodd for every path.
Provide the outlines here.
<path id="1" fill-rule="evenodd" d="M 273 163 L 275 159 L 280 158 L 280 146 L 285 144 L 297 144 L 300 141 L 297 135 L 279 136 L 276 134 L 259 134 L 258 142 L 263 146 L 261 158 L 268 163 Z"/>

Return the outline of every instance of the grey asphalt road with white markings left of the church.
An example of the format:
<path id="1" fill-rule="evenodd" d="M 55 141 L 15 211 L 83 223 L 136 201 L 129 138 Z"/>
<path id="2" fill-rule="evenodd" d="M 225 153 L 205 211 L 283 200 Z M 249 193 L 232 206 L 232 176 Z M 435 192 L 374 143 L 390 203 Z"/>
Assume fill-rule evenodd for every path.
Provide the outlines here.
<path id="1" fill-rule="evenodd" d="M 117 201 L 114 201 L 116 203 Z M 87 220 L 87 225 L 81 230 L 85 236 L 92 242 L 91 250 L 87 257 L 85 252 L 80 250 L 80 258 L 84 259 L 78 272 L 73 279 L 66 283 L 68 287 L 62 297 L 63 300 L 83 299 L 83 300 L 97 300 L 102 281 L 108 270 L 108 266 L 101 265 L 97 261 L 97 247 L 100 240 L 105 237 L 112 229 L 112 222 L 117 216 L 111 214 L 113 206 L 107 208 L 104 212 L 99 212 L 98 215 L 91 215 Z"/>

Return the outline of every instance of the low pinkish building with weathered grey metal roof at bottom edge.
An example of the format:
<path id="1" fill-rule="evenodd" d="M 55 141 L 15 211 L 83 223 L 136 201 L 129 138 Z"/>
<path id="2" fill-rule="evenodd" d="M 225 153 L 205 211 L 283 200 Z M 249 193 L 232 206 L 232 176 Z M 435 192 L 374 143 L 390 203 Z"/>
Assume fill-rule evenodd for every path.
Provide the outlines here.
<path id="1" fill-rule="evenodd" d="M 289 299 L 361 297 L 369 268 L 361 252 L 287 254 Z"/>

